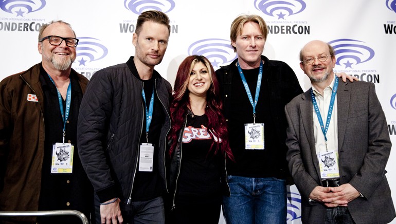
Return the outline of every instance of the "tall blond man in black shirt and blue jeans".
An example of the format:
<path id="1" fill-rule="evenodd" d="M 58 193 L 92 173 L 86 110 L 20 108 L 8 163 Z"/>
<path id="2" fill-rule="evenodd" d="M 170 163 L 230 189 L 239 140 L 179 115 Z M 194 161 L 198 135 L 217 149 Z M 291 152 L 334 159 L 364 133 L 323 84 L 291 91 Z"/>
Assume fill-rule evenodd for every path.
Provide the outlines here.
<path id="1" fill-rule="evenodd" d="M 227 223 L 286 223 L 284 106 L 302 89 L 289 65 L 261 55 L 267 34 L 259 15 L 238 16 L 230 32 L 238 59 L 216 71 L 235 158 L 226 167 Z"/>

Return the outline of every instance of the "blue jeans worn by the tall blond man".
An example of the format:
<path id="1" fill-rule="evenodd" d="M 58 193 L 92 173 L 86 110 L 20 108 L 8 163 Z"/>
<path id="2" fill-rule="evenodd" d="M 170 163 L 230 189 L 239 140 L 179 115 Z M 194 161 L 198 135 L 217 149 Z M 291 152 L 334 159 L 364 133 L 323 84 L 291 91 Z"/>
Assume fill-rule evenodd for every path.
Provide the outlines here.
<path id="1" fill-rule="evenodd" d="M 286 223 L 286 183 L 276 178 L 228 176 L 231 197 L 223 197 L 227 224 Z"/>

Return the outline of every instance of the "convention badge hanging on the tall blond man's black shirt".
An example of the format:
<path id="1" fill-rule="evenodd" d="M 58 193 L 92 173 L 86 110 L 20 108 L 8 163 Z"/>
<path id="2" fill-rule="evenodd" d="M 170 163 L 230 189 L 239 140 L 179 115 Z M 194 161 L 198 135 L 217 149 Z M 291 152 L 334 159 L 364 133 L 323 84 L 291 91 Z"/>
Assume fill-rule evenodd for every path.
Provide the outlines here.
<path id="1" fill-rule="evenodd" d="M 264 150 L 264 124 L 245 124 L 245 148 Z"/>

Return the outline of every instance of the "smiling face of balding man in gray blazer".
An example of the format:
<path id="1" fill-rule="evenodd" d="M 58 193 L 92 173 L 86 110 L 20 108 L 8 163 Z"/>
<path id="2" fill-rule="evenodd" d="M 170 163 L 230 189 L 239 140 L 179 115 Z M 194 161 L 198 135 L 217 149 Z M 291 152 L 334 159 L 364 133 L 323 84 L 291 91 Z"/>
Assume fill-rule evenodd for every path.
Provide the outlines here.
<path id="1" fill-rule="evenodd" d="M 331 82 L 329 79 L 330 74 L 333 73 L 333 68 L 335 67 L 335 57 L 331 56 L 329 51 L 329 46 L 327 43 L 322 41 L 311 41 L 301 50 L 302 60 L 307 60 L 307 58 L 314 59 L 312 64 L 307 64 L 305 62 L 300 63 L 301 69 L 310 78 L 312 83 L 320 82 Z M 323 55 L 328 55 L 326 61 L 320 61 L 318 58 Z"/>

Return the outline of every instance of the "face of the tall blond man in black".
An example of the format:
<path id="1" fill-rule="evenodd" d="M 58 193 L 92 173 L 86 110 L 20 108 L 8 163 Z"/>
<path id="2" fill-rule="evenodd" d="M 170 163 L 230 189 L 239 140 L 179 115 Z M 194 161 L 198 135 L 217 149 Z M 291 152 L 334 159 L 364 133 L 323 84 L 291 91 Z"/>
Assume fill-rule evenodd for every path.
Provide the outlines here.
<path id="1" fill-rule="evenodd" d="M 265 39 L 259 24 L 247 22 L 243 25 L 232 46 L 237 49 L 238 62 L 243 69 L 257 68 L 260 66 L 261 54 L 264 50 Z"/>

